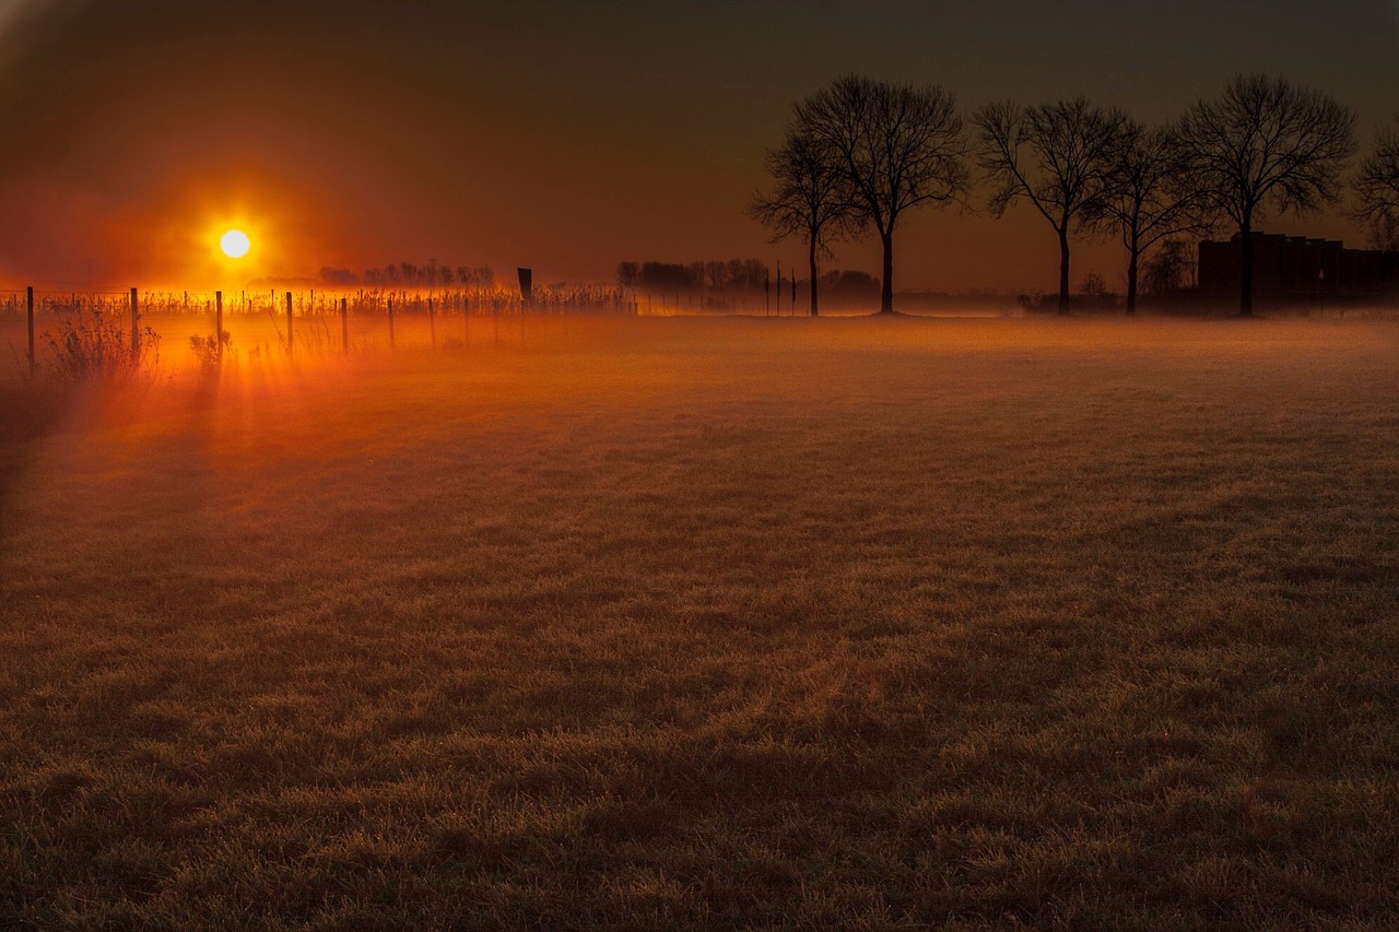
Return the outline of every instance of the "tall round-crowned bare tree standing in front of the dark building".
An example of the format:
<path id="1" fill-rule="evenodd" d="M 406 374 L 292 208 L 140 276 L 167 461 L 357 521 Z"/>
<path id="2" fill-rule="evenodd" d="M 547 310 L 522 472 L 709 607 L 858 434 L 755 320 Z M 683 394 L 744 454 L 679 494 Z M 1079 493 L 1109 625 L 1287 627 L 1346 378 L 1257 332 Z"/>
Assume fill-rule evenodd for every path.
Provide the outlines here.
<path id="1" fill-rule="evenodd" d="M 1330 97 L 1265 74 L 1240 74 L 1181 119 L 1191 168 L 1213 206 L 1238 225 L 1238 312 L 1254 313 L 1254 221 L 1266 207 L 1307 213 L 1340 196 L 1356 151 L 1356 113 Z"/>

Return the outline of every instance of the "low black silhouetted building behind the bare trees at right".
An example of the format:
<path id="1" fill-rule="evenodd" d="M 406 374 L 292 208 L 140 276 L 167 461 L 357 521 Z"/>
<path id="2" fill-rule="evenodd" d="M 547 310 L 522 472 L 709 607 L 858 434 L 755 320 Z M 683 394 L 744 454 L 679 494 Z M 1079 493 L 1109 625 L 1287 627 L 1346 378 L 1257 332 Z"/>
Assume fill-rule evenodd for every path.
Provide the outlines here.
<path id="1" fill-rule="evenodd" d="M 1199 294 L 1237 301 L 1242 242 L 1206 239 L 1199 252 Z M 1258 304 L 1368 302 L 1399 297 L 1399 253 L 1347 249 L 1339 239 L 1254 234 L 1254 301 Z"/>

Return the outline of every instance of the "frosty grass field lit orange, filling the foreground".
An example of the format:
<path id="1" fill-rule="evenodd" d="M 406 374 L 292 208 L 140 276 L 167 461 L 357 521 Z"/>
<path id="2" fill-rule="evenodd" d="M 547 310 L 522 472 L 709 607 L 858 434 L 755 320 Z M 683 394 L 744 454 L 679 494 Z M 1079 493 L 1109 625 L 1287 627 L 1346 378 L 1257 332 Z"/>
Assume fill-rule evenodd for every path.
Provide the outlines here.
<path id="1" fill-rule="evenodd" d="M 162 355 L 0 382 L 0 926 L 1399 924 L 1396 322 Z"/>

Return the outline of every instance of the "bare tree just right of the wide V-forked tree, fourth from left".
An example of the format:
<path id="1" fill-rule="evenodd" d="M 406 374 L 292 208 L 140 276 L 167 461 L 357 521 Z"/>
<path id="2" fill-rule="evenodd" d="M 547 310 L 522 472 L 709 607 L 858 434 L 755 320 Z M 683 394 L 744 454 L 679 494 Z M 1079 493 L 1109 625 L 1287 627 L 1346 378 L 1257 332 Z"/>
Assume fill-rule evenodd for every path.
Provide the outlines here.
<path id="1" fill-rule="evenodd" d="M 1122 130 L 1094 214 L 1122 238 L 1128 250 L 1130 315 L 1136 313 L 1142 256 L 1163 239 L 1207 231 L 1212 211 L 1174 129 L 1147 129 L 1126 120 Z"/>

